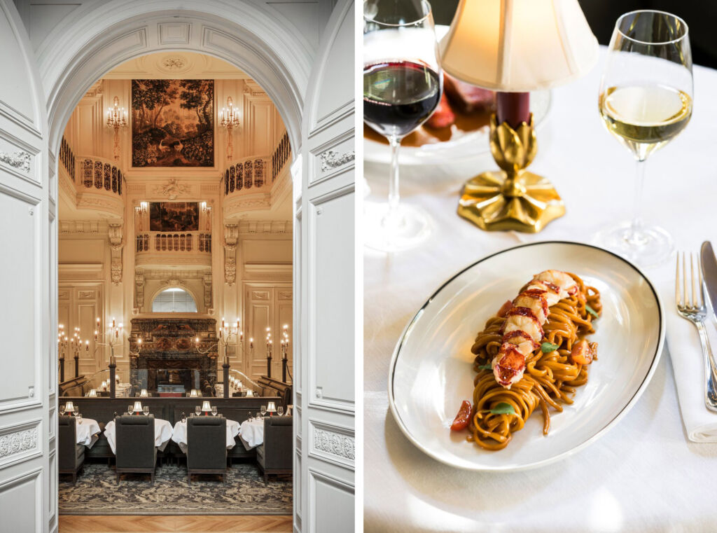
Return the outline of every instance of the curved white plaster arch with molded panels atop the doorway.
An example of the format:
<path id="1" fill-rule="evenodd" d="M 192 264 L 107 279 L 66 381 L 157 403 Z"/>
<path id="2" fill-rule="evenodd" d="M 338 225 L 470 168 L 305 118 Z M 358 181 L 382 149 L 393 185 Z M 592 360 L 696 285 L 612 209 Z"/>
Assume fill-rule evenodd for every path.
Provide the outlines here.
<path id="1" fill-rule="evenodd" d="M 47 98 L 49 147 L 88 88 L 121 63 L 153 52 L 200 52 L 247 72 L 273 100 L 300 153 L 303 96 L 313 50 L 282 16 L 246 2 L 204 0 L 201 11 L 174 0 L 113 0 L 82 6 L 37 50 Z M 54 170 L 54 169 L 53 169 Z"/>

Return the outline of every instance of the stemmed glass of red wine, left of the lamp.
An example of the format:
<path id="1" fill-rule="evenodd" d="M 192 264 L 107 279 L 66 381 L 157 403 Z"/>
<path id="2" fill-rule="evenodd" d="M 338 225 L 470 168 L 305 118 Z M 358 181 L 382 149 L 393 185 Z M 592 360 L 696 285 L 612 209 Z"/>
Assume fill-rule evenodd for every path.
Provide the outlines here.
<path id="1" fill-rule="evenodd" d="M 388 202 L 365 205 L 366 246 L 413 247 L 430 233 L 428 217 L 399 202 L 399 148 L 441 99 L 443 72 L 426 0 L 364 1 L 364 122 L 391 146 Z"/>

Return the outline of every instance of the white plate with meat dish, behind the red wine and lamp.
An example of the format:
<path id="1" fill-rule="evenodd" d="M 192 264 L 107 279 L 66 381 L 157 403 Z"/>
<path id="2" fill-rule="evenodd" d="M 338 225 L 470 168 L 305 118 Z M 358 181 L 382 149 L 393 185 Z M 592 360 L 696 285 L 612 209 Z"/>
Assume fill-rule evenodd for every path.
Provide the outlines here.
<path id="1" fill-rule="evenodd" d="M 448 28 L 448 26 L 436 26 L 436 37 L 439 41 L 448 32 Z M 550 90 L 531 92 L 531 111 L 538 131 L 543 126 L 543 122 L 548 115 L 550 101 Z M 442 143 L 402 146 L 399 151 L 399 161 L 402 165 L 447 164 L 460 159 L 485 156 L 490 154 L 488 133 L 488 126 L 485 126 Z M 389 145 L 364 138 L 364 161 L 390 163 L 391 151 L 389 150 Z"/>

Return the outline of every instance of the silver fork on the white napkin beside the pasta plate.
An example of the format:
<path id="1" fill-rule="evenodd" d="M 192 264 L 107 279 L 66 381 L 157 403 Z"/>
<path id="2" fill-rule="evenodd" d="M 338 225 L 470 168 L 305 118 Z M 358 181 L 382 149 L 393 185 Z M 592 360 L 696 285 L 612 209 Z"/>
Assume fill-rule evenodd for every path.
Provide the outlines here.
<path id="1" fill-rule="evenodd" d="M 683 319 L 693 324 L 700 334 L 700 342 L 702 344 L 702 356 L 705 365 L 705 406 L 708 410 L 717 412 L 717 394 L 715 393 L 714 384 L 717 383 L 717 364 L 715 364 L 714 356 L 707 337 L 705 329 L 705 318 L 707 316 L 707 307 L 705 306 L 705 293 L 702 284 L 702 269 L 700 263 L 697 263 L 698 284 L 700 290 L 695 287 L 695 260 L 693 254 L 690 253 L 690 272 L 687 271 L 687 260 L 685 253 L 682 253 L 682 283 L 680 283 L 680 253 L 677 254 L 677 271 L 675 273 L 675 302 L 677 303 L 677 312 Z M 688 277 L 690 278 L 688 291 Z M 683 290 L 680 291 L 680 285 Z M 685 297 L 683 300 L 683 296 Z"/>

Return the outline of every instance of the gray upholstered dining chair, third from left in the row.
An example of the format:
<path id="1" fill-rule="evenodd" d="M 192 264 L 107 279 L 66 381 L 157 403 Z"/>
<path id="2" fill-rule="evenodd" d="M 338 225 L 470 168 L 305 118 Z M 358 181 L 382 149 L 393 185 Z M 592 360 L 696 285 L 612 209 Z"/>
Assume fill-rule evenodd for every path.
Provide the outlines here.
<path id="1" fill-rule="evenodd" d="M 193 416 L 186 420 L 186 480 L 193 473 L 218 473 L 227 482 L 227 419 Z"/>

